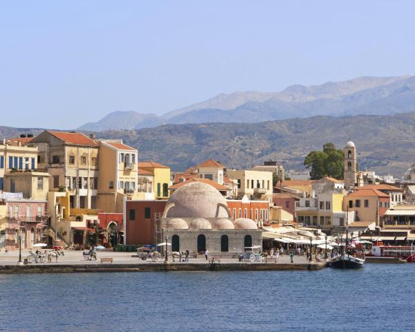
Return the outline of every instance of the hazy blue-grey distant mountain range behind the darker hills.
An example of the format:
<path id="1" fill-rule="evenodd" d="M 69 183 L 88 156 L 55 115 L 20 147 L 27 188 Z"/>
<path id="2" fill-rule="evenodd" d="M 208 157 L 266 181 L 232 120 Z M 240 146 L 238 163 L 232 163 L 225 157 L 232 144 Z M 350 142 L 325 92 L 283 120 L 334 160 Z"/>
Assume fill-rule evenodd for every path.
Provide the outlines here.
<path id="1" fill-rule="evenodd" d="M 415 76 L 358 77 L 321 85 L 288 86 L 279 92 L 221 93 L 157 116 L 115 111 L 78 130 L 142 129 L 162 124 L 255 123 L 312 116 L 389 115 L 415 111 Z"/>

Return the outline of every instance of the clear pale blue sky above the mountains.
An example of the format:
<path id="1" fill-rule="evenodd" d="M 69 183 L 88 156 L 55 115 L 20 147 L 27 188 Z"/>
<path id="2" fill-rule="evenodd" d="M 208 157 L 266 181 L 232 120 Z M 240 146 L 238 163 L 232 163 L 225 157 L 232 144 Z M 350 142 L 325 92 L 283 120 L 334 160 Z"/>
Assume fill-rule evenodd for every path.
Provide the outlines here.
<path id="1" fill-rule="evenodd" d="M 415 1 L 0 1 L 0 125 L 415 73 Z"/>

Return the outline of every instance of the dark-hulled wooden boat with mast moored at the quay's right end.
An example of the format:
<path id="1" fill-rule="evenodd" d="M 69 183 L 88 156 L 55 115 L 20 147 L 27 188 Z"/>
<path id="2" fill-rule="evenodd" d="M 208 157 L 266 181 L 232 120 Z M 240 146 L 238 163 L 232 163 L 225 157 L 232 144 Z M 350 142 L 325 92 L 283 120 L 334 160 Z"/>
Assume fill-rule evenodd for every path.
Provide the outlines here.
<path id="1" fill-rule="evenodd" d="M 338 254 L 331 259 L 329 266 L 332 268 L 362 268 L 363 264 L 365 264 L 365 254 L 353 246 L 353 237 L 349 241 L 346 230 L 346 242 L 340 243 Z"/>

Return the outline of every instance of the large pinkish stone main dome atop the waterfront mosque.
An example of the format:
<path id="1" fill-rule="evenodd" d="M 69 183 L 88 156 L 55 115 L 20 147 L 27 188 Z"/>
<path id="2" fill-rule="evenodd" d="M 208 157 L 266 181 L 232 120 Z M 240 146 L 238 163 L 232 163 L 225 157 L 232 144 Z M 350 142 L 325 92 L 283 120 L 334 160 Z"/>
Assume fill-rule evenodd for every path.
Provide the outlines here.
<path id="1" fill-rule="evenodd" d="M 228 205 L 222 194 L 212 185 L 192 182 L 174 191 L 166 206 L 166 218 L 228 218 Z"/>

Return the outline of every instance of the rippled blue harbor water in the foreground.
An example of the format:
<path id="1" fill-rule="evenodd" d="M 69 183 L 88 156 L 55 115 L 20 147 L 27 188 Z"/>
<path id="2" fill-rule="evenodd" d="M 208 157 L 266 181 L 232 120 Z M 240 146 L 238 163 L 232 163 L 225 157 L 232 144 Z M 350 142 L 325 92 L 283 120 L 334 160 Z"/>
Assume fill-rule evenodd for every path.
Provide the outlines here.
<path id="1" fill-rule="evenodd" d="M 415 264 L 0 275 L 0 331 L 415 331 Z"/>

